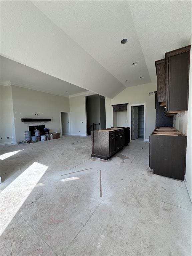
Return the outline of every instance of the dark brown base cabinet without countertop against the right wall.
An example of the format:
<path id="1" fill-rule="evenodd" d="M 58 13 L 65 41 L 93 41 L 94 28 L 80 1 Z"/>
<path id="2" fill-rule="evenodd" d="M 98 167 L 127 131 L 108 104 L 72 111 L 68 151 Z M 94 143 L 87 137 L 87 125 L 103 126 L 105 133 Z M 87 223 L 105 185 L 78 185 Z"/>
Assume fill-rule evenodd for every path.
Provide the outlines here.
<path id="1" fill-rule="evenodd" d="M 149 136 L 149 166 L 154 174 L 184 180 L 187 136 L 174 127 L 157 127 Z"/>

